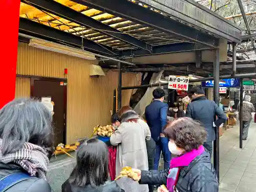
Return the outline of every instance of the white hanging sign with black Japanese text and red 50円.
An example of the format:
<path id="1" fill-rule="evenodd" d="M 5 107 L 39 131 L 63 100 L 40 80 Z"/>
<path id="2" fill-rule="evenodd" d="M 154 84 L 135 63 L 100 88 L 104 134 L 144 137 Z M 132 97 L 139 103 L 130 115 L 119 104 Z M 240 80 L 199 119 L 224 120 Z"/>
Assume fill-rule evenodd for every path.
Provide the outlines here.
<path id="1" fill-rule="evenodd" d="M 184 76 L 169 75 L 168 89 L 188 90 L 189 78 Z"/>

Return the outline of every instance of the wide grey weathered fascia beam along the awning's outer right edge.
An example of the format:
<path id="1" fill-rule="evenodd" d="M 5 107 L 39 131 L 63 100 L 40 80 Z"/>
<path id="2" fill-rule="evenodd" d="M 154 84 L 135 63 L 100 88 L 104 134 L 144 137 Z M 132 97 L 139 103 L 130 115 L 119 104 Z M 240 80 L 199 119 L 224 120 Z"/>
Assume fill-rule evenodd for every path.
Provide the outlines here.
<path id="1" fill-rule="evenodd" d="M 190 26 L 225 38 L 229 42 L 241 41 L 241 29 L 238 26 L 194 0 L 139 0 L 138 2 Z"/>

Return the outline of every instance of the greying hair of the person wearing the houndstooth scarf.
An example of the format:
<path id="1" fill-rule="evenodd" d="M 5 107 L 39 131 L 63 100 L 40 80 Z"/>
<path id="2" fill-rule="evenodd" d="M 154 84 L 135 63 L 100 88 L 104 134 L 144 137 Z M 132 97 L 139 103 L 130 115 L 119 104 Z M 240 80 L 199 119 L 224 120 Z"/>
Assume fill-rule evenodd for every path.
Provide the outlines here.
<path id="1" fill-rule="evenodd" d="M 18 151 L 25 142 L 53 147 L 52 115 L 44 104 L 33 99 L 15 99 L 0 110 L 0 138 L 3 154 Z"/>

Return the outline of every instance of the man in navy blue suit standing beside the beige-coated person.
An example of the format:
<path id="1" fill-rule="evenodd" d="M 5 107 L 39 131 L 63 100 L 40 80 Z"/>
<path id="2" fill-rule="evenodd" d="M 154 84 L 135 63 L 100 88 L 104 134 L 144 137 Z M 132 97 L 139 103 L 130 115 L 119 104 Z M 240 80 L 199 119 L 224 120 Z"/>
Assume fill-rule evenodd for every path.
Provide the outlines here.
<path id="1" fill-rule="evenodd" d="M 151 137 L 156 142 L 156 156 L 154 169 L 158 170 L 158 164 L 161 152 L 163 154 L 164 168 L 168 169 L 170 166 L 171 154 L 168 148 L 168 139 L 162 134 L 162 128 L 167 123 L 168 105 L 163 102 L 164 91 L 162 89 L 155 89 L 153 91 L 154 101 L 146 106 L 145 118 L 151 130 Z"/>

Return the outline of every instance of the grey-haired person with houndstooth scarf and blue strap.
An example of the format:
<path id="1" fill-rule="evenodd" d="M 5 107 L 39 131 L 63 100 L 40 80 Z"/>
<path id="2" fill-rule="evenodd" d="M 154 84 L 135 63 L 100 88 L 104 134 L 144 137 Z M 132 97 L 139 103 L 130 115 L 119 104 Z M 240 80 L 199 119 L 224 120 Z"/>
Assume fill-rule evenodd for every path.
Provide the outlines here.
<path id="1" fill-rule="evenodd" d="M 16 99 L 0 110 L 0 188 L 3 183 L 6 186 L 3 191 L 51 192 L 46 178 L 53 151 L 51 123 L 51 112 L 36 100 Z M 25 175 L 24 180 L 14 179 L 21 175 Z M 12 180 L 9 185 L 4 182 L 6 178 Z"/>

